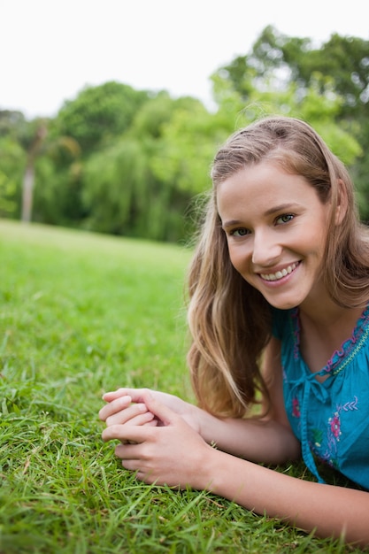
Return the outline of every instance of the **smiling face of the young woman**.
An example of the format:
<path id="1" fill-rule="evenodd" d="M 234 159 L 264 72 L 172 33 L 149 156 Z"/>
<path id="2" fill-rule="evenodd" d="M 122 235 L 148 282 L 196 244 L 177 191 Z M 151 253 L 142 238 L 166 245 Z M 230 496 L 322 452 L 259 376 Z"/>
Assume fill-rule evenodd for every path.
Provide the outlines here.
<path id="1" fill-rule="evenodd" d="M 289 309 L 327 296 L 320 268 L 329 204 L 304 177 L 261 162 L 223 181 L 217 200 L 234 268 L 270 304 Z"/>

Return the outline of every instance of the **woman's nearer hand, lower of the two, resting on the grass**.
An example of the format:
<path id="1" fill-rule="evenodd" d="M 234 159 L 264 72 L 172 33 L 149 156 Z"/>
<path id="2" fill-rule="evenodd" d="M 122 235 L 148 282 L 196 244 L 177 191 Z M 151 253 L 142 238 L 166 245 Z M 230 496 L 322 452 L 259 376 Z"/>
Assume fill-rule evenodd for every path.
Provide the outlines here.
<path id="1" fill-rule="evenodd" d="M 151 395 L 146 390 L 134 397 L 140 399 L 148 412 L 160 422 L 160 426 L 115 423 L 104 429 L 104 441 L 120 441 L 115 454 L 122 460 L 122 466 L 136 472 L 137 478 L 146 483 L 165 484 L 181 489 L 186 486 L 194 489 L 206 488 L 209 476 L 205 461 L 214 450 L 181 415 L 159 402 L 155 393 Z M 125 403 L 128 403 L 127 399 Z M 123 409 L 123 412 L 125 410 L 129 408 Z M 134 418 L 139 418 L 140 415 L 135 415 Z"/>

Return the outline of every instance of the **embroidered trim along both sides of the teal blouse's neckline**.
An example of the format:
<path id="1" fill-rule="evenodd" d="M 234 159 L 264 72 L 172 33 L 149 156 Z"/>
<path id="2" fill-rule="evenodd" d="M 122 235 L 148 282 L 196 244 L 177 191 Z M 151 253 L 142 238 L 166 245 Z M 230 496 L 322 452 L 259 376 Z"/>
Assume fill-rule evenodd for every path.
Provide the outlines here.
<path id="1" fill-rule="evenodd" d="M 296 307 L 291 311 L 292 326 L 294 330 L 294 357 L 303 359 L 300 351 L 300 318 L 299 318 L 299 308 Z M 369 335 L 369 303 L 366 305 L 364 312 L 362 312 L 359 319 L 357 319 L 357 324 L 354 327 L 352 335 L 350 338 L 342 342 L 342 345 L 339 350 L 334 350 L 331 358 L 327 361 L 327 365 L 322 367 L 318 373 L 315 374 L 324 374 L 331 373 L 335 375 L 340 373 L 342 369 L 350 363 L 350 361 L 356 356 L 357 351 L 360 350 L 362 345 L 365 343 Z"/>

